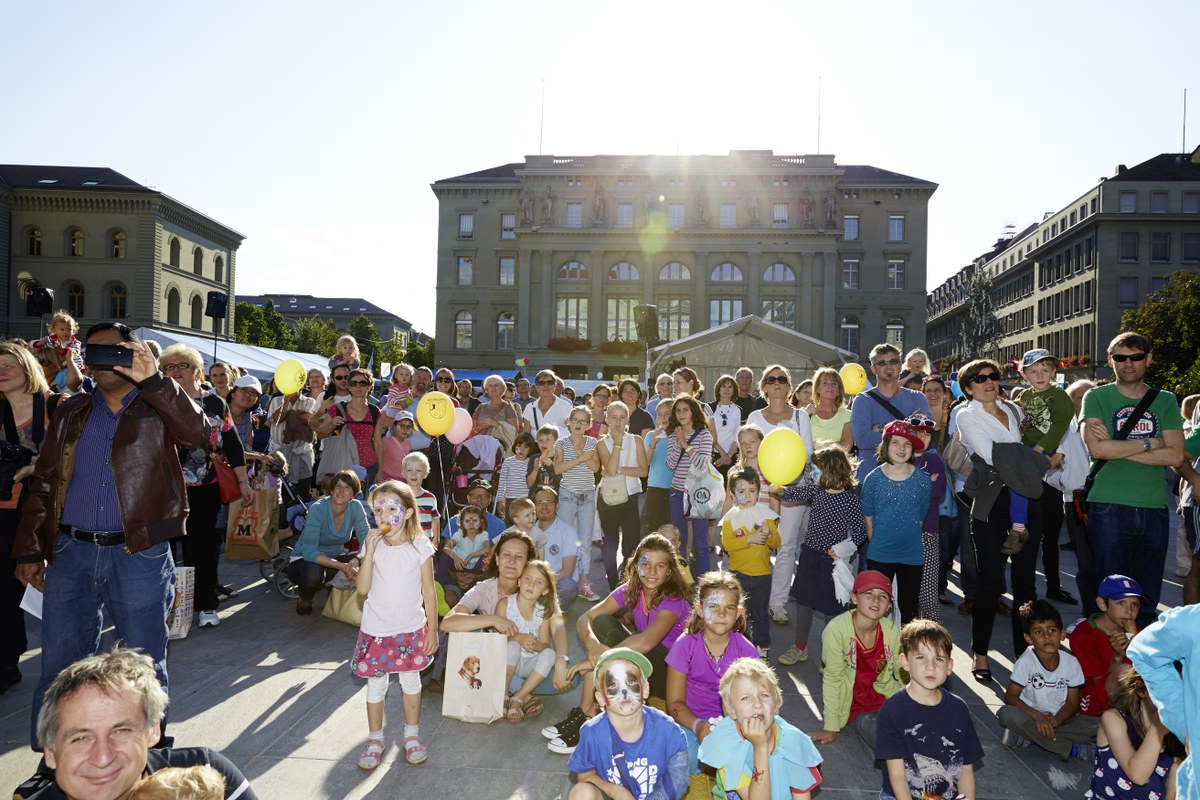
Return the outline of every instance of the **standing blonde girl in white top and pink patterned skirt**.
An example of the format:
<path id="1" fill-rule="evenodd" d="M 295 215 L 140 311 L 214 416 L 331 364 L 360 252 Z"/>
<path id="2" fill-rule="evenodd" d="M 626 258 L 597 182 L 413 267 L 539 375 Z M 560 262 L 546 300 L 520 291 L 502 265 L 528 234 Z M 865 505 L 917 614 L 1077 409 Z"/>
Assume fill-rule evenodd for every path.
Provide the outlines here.
<path id="1" fill-rule="evenodd" d="M 350 658 L 354 674 L 367 679 L 367 744 L 359 766 L 372 770 L 383 757 L 383 700 L 391 673 L 404 692 L 404 754 L 409 764 L 426 758 L 420 672 L 438 649 L 438 603 L 433 589 L 433 543 L 421 531 L 416 497 L 400 481 L 371 493 L 378 528 L 362 543 L 355 588 L 366 595 L 362 627 Z"/>

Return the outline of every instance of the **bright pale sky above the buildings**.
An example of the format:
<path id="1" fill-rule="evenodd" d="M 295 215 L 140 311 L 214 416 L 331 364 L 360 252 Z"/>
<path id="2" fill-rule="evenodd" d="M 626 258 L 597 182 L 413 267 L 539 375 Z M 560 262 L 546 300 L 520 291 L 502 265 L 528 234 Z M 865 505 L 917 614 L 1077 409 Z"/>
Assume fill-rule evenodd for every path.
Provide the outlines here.
<path id="1" fill-rule="evenodd" d="M 940 185 L 931 290 L 1006 225 L 1180 152 L 1184 89 L 1200 143 L 1193 11 L 12 2 L 0 163 L 110 167 L 242 233 L 239 293 L 364 296 L 432 335 L 436 180 L 539 151 L 833 154 Z"/>

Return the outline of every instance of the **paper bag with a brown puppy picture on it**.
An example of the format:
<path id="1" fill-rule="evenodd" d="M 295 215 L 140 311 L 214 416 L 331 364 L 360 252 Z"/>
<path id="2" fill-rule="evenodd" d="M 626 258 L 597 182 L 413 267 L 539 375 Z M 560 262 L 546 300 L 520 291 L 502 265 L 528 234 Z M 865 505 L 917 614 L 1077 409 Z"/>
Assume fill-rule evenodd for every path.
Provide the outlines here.
<path id="1" fill-rule="evenodd" d="M 504 716 L 508 646 L 503 633 L 449 634 L 442 716 L 484 724 Z"/>

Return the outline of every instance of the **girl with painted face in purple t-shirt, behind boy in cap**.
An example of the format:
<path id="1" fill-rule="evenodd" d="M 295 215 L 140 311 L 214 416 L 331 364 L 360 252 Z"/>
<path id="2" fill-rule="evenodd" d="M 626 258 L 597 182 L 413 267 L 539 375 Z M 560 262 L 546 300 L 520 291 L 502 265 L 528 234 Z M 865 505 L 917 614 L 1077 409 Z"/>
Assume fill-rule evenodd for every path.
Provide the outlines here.
<path id="1" fill-rule="evenodd" d="M 700 742 L 721 716 L 721 676 L 738 658 L 758 657 L 745 630 L 745 596 L 733 573 L 700 576 L 688 631 L 667 654 L 667 714 L 688 738 L 688 769 L 692 775 L 700 772 Z"/>

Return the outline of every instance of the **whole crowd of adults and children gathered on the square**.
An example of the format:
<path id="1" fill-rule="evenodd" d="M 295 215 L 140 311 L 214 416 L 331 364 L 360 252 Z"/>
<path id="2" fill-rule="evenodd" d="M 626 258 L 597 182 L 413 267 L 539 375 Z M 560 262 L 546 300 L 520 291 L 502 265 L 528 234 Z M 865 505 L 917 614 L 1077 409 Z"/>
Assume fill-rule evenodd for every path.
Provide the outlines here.
<path id="1" fill-rule="evenodd" d="M 1172 504 L 1184 601 L 1200 596 L 1200 429 L 1189 432 L 1200 409 L 1187 398 L 1184 419 L 1171 392 L 1146 386 L 1151 344 L 1138 333 L 1109 345 L 1114 380 L 1099 386 L 1058 387 L 1040 349 L 1006 387 L 996 361 L 952 379 L 930 374 L 919 350 L 878 344 L 864 391 L 847 392 L 833 368 L 802 379 L 780 365 L 755 386 L 742 366 L 706 402 L 688 367 L 659 375 L 650 398 L 632 379 L 576 397 L 550 369 L 491 375 L 476 397 L 451 369 L 398 365 L 376 397 L 352 337 L 328 377 L 313 369 L 283 395 L 230 363 L 205 375 L 192 348 L 157 351 L 120 324 L 94 326 L 84 343 L 68 315 L 52 325 L 32 349 L 0 343 L 6 440 L 23 451 L 6 456 L 13 491 L 0 499 L 0 691 L 22 679 L 24 588 L 43 594 L 30 741 L 44 760 L 23 796 L 98 796 L 67 775 L 85 782 L 95 764 L 86 745 L 58 738 L 56 720 L 71 702 L 102 704 L 97 693 L 145 709 L 126 790 L 144 774 L 208 764 L 224 784 L 215 796 L 253 796 L 218 753 L 163 748 L 166 619 L 181 558 L 194 567 L 199 626 L 220 625 L 232 594 L 218 578 L 221 474 L 248 503 L 272 463 L 307 505 L 300 527 L 281 498 L 298 614 L 338 573 L 365 597 L 350 657 L 366 679 L 364 770 L 384 752 L 390 675 L 404 756 L 420 764 L 431 757 L 421 693 L 444 687 L 448 636 L 496 631 L 509 639 L 509 722 L 540 715 L 546 694 L 578 692 L 542 729 L 551 752 L 570 756 L 570 798 L 809 796 L 822 781 L 815 745 L 845 730 L 882 764 L 881 798 L 973 798 L 979 739 L 942 687 L 954 643 L 940 616 L 954 607 L 958 561 L 980 684 L 994 682 L 996 618 L 1012 622 L 1004 745 L 1094 763 L 1088 796 L 1200 788 L 1182 744 L 1200 714 L 1195 606 L 1159 619 Z M 469 413 L 466 437 L 421 429 L 431 391 Z M 785 486 L 758 463 L 776 428 L 808 456 Z M 715 512 L 695 492 L 709 467 L 725 485 Z M 1058 577 L 1064 521 L 1079 599 Z M 606 585 L 593 579 L 593 545 Z M 592 604 L 572 663 L 565 612 L 581 602 Z M 1064 625 L 1054 603 L 1084 619 Z M 130 650 L 97 652 L 106 610 Z M 810 657 L 815 614 L 823 727 L 805 734 L 779 716 L 769 661 L 779 628 L 781 669 Z M 1182 679 L 1165 666 L 1175 660 Z"/>

